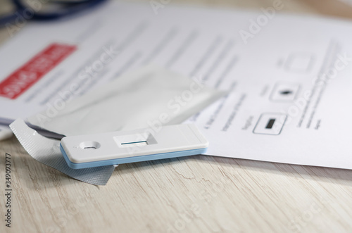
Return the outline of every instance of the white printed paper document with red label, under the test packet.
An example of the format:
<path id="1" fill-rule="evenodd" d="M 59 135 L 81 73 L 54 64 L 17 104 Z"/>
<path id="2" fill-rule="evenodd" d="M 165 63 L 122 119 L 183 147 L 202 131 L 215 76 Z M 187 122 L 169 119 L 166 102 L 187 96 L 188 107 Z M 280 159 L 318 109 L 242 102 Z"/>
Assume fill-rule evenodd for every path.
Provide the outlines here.
<path id="1" fill-rule="evenodd" d="M 31 23 L 0 49 L 0 120 L 55 115 L 156 63 L 230 91 L 187 120 L 210 141 L 208 155 L 352 169 L 352 22 L 279 9 L 111 2 Z"/>

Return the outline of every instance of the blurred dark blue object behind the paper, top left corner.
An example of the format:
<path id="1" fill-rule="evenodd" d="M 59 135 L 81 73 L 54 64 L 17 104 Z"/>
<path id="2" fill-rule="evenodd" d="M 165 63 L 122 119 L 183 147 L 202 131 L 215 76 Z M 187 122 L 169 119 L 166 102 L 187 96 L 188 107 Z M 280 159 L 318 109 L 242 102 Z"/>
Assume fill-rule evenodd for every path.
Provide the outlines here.
<path id="1" fill-rule="evenodd" d="M 89 8 L 94 8 L 107 0 L 58 0 L 48 1 L 51 4 L 61 6 L 51 11 L 35 11 L 32 7 L 23 4 L 23 0 L 12 0 L 15 6 L 14 13 L 0 16 L 0 27 L 8 23 L 14 23 L 17 18 L 22 16 L 26 20 L 58 20 L 68 15 L 73 15 Z M 39 1 L 39 4 L 42 4 Z M 30 13 L 30 17 L 28 16 Z M 27 15 L 25 15 L 27 14 Z"/>

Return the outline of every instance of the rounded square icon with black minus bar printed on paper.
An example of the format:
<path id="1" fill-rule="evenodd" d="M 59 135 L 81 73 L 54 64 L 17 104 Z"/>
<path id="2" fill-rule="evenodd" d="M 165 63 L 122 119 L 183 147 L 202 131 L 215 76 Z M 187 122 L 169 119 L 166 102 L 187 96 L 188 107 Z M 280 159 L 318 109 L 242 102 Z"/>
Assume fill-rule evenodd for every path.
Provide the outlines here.
<path id="1" fill-rule="evenodd" d="M 282 113 L 263 113 L 254 127 L 254 134 L 278 135 L 282 132 L 287 115 Z"/>

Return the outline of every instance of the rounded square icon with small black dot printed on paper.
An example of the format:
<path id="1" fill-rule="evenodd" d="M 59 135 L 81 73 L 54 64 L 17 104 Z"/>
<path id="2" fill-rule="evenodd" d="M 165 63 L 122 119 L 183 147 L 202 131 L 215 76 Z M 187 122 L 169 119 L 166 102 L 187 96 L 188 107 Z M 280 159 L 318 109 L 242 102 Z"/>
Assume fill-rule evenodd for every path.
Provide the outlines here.
<path id="1" fill-rule="evenodd" d="M 278 82 L 270 95 L 271 101 L 294 101 L 298 95 L 298 83 Z"/>

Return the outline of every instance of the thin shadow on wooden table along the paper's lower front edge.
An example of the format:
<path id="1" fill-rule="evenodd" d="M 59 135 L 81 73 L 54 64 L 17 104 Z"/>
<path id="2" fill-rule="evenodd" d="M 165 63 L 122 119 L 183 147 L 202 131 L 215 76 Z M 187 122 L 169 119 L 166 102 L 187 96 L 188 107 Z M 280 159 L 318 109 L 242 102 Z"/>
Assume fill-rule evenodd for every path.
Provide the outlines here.
<path id="1" fill-rule="evenodd" d="M 188 166 L 203 167 L 210 169 L 210 166 L 220 168 L 227 167 L 227 171 L 241 168 L 242 170 L 253 170 L 261 172 L 270 172 L 279 175 L 288 175 L 293 177 L 302 177 L 303 179 L 312 179 L 322 182 L 333 182 L 352 186 L 352 170 L 339 168 L 323 168 L 308 165 L 291 165 L 284 163 L 271 163 L 257 160 L 246 160 L 240 158 L 225 158 L 217 156 L 186 156 L 182 158 L 172 158 L 163 160 L 153 160 L 142 163 L 122 164 L 115 170 L 116 172 L 131 172 L 139 169 L 158 169 L 165 165 L 176 165 L 178 163 L 187 163 Z M 114 175 L 114 174 L 113 174 Z"/>

